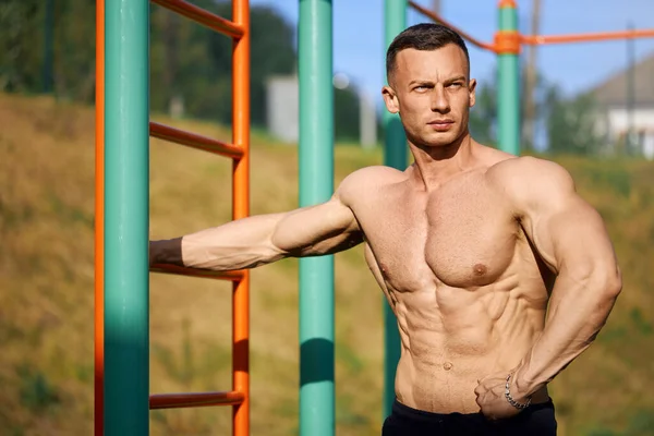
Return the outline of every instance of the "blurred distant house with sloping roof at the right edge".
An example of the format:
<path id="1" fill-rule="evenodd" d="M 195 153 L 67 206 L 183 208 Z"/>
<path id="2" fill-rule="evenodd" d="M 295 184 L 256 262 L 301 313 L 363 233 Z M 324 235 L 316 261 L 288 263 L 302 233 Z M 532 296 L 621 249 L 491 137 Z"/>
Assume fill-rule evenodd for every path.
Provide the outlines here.
<path id="1" fill-rule="evenodd" d="M 633 100 L 629 109 L 629 80 L 633 77 Z M 654 159 L 654 55 L 623 70 L 591 90 L 597 104 L 597 132 L 607 146 L 625 147 L 632 132 L 633 149 Z"/>

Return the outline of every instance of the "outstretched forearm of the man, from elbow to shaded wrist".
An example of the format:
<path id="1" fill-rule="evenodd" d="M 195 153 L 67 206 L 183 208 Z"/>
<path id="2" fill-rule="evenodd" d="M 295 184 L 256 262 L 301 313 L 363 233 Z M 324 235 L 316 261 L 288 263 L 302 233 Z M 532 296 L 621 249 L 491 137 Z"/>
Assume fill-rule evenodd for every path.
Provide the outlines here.
<path id="1" fill-rule="evenodd" d="M 150 241 L 150 265 L 227 271 L 283 257 L 271 242 L 281 214 L 247 217 L 170 240 Z"/>

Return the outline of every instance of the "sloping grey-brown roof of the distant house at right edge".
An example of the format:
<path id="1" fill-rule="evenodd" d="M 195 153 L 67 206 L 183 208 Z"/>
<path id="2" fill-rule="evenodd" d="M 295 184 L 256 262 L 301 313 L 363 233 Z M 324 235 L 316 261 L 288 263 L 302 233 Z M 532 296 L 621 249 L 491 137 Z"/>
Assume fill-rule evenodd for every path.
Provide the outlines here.
<path id="1" fill-rule="evenodd" d="M 633 102 L 639 106 L 654 106 L 654 53 L 645 57 L 634 66 Z M 591 89 L 600 105 L 626 106 L 629 69 L 625 69 Z"/>

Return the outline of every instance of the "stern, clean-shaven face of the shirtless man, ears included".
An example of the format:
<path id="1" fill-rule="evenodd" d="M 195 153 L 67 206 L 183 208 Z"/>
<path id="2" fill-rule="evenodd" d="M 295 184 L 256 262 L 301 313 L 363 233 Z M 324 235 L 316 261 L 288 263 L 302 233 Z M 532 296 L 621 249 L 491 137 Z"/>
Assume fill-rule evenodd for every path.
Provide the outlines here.
<path id="1" fill-rule="evenodd" d="M 447 146 L 468 131 L 476 85 L 469 74 L 465 53 L 453 44 L 397 55 L 390 86 L 383 94 L 387 109 L 399 112 L 411 143 Z"/>

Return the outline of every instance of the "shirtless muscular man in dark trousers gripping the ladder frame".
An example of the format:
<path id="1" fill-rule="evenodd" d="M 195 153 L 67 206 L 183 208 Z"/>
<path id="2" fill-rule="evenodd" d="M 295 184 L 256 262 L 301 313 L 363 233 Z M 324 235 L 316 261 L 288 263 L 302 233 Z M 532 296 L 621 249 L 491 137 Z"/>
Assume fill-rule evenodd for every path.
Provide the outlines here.
<path id="1" fill-rule="evenodd" d="M 387 73 L 405 171 L 364 168 L 324 204 L 154 241 L 150 263 L 223 271 L 364 243 L 401 335 L 383 434 L 554 435 L 547 384 L 621 289 L 604 223 L 558 165 L 470 136 L 476 83 L 459 35 L 408 28 Z"/>

